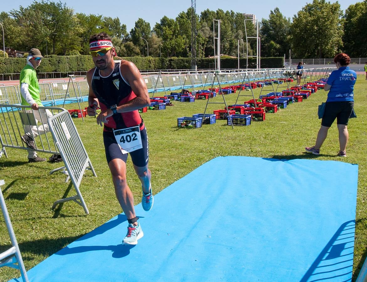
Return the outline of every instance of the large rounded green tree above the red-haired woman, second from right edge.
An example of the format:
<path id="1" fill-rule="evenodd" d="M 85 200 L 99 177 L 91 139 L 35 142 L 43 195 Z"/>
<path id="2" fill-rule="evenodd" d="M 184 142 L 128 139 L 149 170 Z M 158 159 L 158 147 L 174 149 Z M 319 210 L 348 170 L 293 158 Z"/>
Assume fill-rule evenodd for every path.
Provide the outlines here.
<path id="1" fill-rule="evenodd" d="M 313 0 L 293 17 L 290 28 L 293 56 L 331 58 L 343 45 L 343 15 L 338 2 Z"/>

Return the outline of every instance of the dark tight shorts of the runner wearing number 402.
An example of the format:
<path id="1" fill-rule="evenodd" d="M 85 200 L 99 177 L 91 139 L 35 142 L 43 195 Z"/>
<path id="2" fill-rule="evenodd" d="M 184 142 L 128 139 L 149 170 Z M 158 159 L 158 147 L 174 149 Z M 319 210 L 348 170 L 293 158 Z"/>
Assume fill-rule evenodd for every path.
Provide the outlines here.
<path id="1" fill-rule="evenodd" d="M 148 135 L 146 134 L 146 128 L 140 131 L 141 143 L 143 147 L 141 149 L 130 152 L 132 163 L 136 166 L 146 166 L 148 164 L 149 152 L 148 152 Z M 107 163 L 113 159 L 121 159 L 125 163 L 127 161 L 127 155 L 123 154 L 119 144 L 117 144 L 113 131 L 103 131 L 103 143 L 105 144 L 105 152 Z"/>

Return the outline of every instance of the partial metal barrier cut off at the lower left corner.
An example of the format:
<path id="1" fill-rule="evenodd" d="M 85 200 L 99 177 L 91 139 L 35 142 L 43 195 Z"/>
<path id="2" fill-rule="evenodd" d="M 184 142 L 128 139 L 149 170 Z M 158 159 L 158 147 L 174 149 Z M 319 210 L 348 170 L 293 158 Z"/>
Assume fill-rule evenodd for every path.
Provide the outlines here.
<path id="1" fill-rule="evenodd" d="M 0 180 L 0 187 L 4 184 L 5 184 L 4 180 Z M 0 206 L 1 206 L 1 211 L 3 212 L 4 220 L 6 223 L 6 227 L 8 229 L 8 233 L 9 233 L 9 237 L 10 237 L 10 241 L 12 245 L 10 249 L 6 250 L 5 252 L 0 253 L 0 267 L 7 266 L 7 267 L 19 269 L 21 272 L 23 281 L 28 282 L 27 272 L 23 264 L 22 255 L 19 250 L 17 238 L 15 238 L 13 226 L 10 221 L 9 213 L 6 208 L 3 192 L 1 191 L 1 189 L 0 189 Z"/>

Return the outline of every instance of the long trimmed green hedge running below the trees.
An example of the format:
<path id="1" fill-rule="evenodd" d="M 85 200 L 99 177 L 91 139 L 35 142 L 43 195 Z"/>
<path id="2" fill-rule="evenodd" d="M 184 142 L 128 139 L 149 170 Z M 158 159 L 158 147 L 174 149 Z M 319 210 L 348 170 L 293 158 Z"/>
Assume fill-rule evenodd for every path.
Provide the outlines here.
<path id="1" fill-rule="evenodd" d="M 190 69 L 190 58 L 141 58 L 126 57 L 124 60 L 133 62 L 139 70 L 175 70 Z M 0 74 L 20 73 L 26 65 L 26 58 L 0 58 Z M 284 65 L 283 57 L 261 58 L 262 68 L 282 67 Z M 198 58 L 196 59 L 197 69 L 214 69 L 214 59 Z M 91 56 L 56 56 L 50 55 L 42 59 L 42 63 L 37 69 L 40 73 L 52 72 L 86 72 L 94 67 Z M 237 69 L 237 58 L 221 59 L 221 69 Z M 248 58 L 248 67 L 256 67 L 256 59 Z M 240 58 L 240 68 L 246 68 L 246 59 Z"/>

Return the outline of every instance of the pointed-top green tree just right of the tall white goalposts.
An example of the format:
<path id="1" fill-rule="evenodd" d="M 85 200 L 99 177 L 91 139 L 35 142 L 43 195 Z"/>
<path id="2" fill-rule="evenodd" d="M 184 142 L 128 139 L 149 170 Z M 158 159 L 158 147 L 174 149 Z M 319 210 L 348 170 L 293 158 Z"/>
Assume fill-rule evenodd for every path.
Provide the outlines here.
<path id="1" fill-rule="evenodd" d="M 276 7 L 270 11 L 269 19 L 261 20 L 261 55 L 280 57 L 290 49 L 289 32 L 291 20 L 286 18 Z"/>

